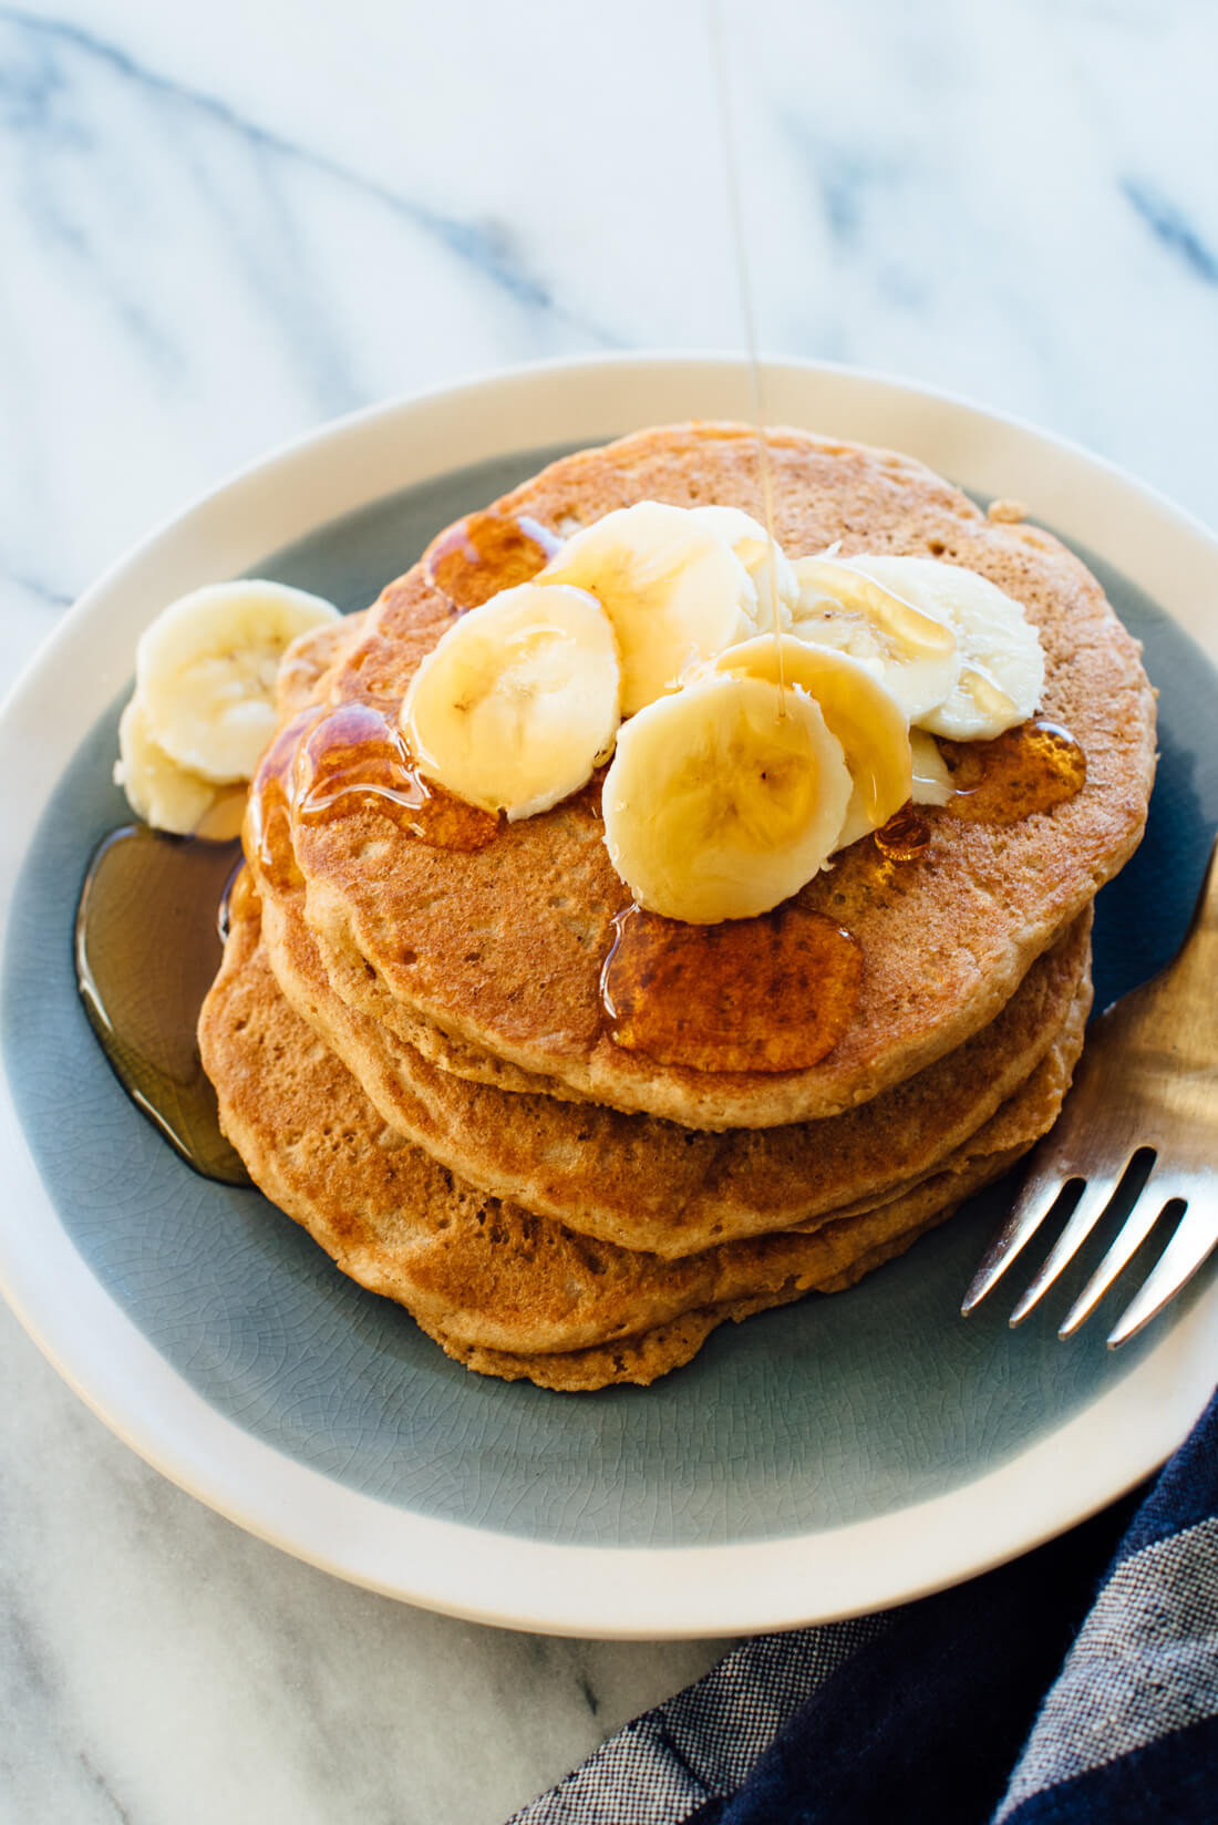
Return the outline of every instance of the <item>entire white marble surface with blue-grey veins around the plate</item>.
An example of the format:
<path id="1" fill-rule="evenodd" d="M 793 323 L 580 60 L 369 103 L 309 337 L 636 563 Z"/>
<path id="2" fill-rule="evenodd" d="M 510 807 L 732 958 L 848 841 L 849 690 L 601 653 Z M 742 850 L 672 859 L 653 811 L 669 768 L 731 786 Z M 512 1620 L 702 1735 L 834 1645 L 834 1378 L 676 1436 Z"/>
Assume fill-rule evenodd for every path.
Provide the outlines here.
<path id="1" fill-rule="evenodd" d="M 968 392 L 1218 522 L 1209 0 L 725 0 L 761 345 Z M 0 673 L 351 407 L 736 349 L 694 0 L 0 5 Z M 0 1316 L 0 1820 L 489 1821 L 716 1644 L 541 1641 L 296 1564 Z"/>

